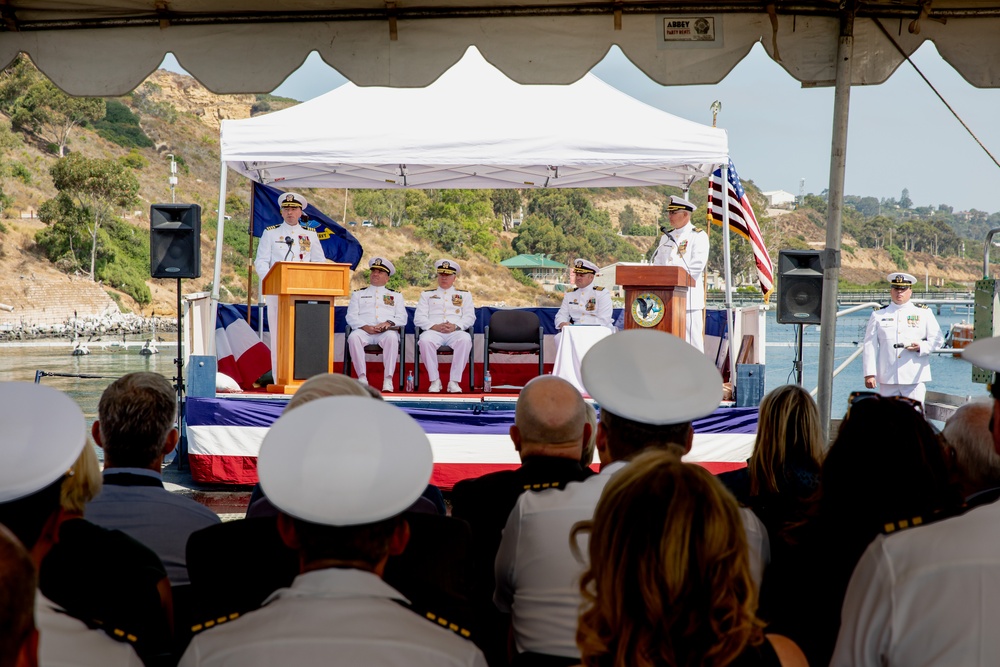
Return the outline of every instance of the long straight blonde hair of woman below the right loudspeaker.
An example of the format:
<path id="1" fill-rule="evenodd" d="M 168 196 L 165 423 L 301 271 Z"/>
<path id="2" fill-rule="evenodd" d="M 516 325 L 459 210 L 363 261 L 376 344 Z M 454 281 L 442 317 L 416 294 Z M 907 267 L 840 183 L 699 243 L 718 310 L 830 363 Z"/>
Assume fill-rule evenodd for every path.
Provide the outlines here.
<path id="1" fill-rule="evenodd" d="M 760 402 L 757 440 L 747 464 L 750 495 L 778 493 L 785 486 L 785 465 L 819 473 L 823 431 L 816 401 L 797 384 L 778 387 Z"/>

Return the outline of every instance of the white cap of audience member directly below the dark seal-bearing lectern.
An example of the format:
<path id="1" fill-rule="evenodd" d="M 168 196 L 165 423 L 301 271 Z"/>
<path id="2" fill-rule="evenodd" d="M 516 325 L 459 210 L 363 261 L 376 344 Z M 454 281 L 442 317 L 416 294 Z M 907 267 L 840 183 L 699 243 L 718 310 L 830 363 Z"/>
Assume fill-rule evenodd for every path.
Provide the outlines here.
<path id="1" fill-rule="evenodd" d="M 682 424 L 722 401 L 715 364 L 677 336 L 630 329 L 601 339 L 580 365 L 587 393 L 611 412 L 643 424 Z"/>

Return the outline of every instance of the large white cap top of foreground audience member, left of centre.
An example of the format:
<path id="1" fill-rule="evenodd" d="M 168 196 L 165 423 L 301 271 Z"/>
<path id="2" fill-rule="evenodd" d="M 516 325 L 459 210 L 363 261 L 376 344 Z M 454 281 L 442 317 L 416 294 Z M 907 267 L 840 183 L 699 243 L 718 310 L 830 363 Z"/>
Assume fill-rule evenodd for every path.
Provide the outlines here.
<path id="1" fill-rule="evenodd" d="M 396 516 L 427 488 L 433 467 L 430 441 L 412 417 L 360 396 L 320 398 L 285 412 L 257 458 L 275 507 L 327 526 Z"/>

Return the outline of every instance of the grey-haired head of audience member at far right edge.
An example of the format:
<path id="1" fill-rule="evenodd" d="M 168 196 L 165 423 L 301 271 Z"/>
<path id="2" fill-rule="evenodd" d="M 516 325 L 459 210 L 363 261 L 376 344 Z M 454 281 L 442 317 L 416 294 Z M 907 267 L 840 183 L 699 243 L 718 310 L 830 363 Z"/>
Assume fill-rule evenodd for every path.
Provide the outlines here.
<path id="1" fill-rule="evenodd" d="M 966 403 L 944 426 L 944 439 L 955 457 L 955 474 L 969 505 L 1000 497 L 1000 456 L 993 450 L 990 420 L 993 400 Z"/>

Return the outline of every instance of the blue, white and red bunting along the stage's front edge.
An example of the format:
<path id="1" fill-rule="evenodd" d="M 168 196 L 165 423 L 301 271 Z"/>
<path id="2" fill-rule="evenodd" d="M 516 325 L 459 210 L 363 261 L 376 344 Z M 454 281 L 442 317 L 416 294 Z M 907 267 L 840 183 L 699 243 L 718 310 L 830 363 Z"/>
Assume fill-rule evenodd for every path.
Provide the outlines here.
<path id="1" fill-rule="evenodd" d="M 255 484 L 260 444 L 289 398 L 259 393 L 188 397 L 192 479 L 203 484 Z M 434 450 L 431 481 L 443 490 L 459 480 L 520 464 L 508 436 L 514 423 L 516 392 L 388 393 L 385 400 L 405 410 L 424 428 Z M 744 467 L 756 432 L 757 408 L 722 405 L 695 422 L 694 446 L 685 460 L 713 473 Z M 336 438 L 336 432 L 330 437 Z M 597 463 L 595 457 L 595 469 Z"/>

